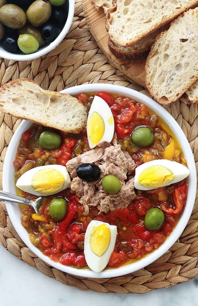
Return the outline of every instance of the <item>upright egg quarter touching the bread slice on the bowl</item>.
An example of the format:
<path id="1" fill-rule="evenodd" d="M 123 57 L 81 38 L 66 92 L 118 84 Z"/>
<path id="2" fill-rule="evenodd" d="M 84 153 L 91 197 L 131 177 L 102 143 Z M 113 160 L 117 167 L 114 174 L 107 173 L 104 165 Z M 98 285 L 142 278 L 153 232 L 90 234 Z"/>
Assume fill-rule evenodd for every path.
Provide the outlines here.
<path id="1" fill-rule="evenodd" d="M 103 141 L 111 142 L 114 119 L 109 105 L 101 97 L 94 96 L 87 118 L 89 147 L 93 149 Z"/>

